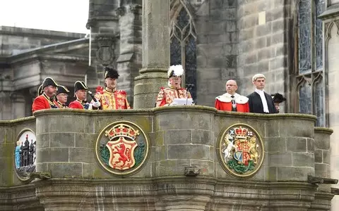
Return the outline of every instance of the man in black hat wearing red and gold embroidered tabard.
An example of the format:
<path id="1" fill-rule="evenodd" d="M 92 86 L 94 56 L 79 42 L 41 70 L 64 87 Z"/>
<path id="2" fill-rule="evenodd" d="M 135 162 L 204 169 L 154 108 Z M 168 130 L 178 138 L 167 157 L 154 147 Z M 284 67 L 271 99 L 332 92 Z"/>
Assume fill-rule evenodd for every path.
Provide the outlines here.
<path id="1" fill-rule="evenodd" d="M 119 74 L 117 70 L 110 67 L 104 68 L 105 89 L 97 87 L 95 98 L 100 102 L 100 108 L 93 104 L 93 110 L 122 110 L 131 109 L 129 101 L 127 101 L 127 94 L 124 90 L 117 90 L 117 79 Z M 91 103 L 94 103 L 92 101 Z"/>

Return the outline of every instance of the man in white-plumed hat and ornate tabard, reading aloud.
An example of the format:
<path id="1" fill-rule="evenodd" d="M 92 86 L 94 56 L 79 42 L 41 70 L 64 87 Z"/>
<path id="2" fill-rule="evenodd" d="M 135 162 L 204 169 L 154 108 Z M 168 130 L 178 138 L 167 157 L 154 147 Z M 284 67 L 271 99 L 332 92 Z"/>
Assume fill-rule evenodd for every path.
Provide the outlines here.
<path id="1" fill-rule="evenodd" d="M 172 65 L 168 68 L 168 87 L 160 88 L 155 107 L 169 106 L 174 98 L 192 98 L 189 91 L 181 88 L 182 75 L 184 75 L 182 65 Z"/>

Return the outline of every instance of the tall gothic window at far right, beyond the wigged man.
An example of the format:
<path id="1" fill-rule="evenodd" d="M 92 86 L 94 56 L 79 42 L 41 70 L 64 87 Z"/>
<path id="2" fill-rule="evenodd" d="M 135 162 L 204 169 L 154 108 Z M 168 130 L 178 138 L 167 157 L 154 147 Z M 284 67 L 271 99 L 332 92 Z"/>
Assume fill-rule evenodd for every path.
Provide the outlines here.
<path id="1" fill-rule="evenodd" d="M 325 126 L 323 101 L 323 26 L 318 16 L 325 0 L 299 1 L 297 112 L 316 115 L 316 126 Z"/>

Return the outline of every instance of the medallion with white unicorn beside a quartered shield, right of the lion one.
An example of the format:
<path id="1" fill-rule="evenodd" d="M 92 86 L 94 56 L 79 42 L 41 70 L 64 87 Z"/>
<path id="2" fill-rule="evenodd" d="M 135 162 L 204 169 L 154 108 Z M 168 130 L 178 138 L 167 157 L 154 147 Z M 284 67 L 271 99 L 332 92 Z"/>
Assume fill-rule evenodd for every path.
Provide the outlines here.
<path id="1" fill-rule="evenodd" d="M 217 153 L 222 167 L 234 177 L 253 176 L 263 163 L 263 141 L 247 124 L 234 124 L 220 132 Z"/>

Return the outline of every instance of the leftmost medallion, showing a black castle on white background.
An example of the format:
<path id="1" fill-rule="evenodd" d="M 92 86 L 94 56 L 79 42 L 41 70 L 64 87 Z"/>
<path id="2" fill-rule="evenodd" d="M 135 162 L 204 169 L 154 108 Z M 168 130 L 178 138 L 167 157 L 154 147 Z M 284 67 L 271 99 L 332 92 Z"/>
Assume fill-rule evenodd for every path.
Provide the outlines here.
<path id="1" fill-rule="evenodd" d="M 22 181 L 30 180 L 30 174 L 35 172 L 36 141 L 35 133 L 30 129 L 23 129 L 16 139 L 14 167 L 16 168 L 16 175 Z"/>

